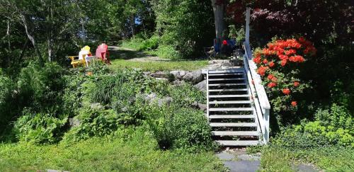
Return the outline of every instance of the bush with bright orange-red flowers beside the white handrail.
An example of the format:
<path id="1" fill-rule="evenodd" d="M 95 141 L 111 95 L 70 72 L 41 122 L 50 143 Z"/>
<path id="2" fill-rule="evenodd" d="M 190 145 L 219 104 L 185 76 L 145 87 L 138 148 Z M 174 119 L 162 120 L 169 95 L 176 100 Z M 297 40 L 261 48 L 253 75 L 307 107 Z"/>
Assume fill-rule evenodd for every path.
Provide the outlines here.
<path id="1" fill-rule="evenodd" d="M 263 79 L 275 112 L 296 110 L 294 97 L 309 87 L 303 81 L 300 84 L 299 69 L 312 55 L 316 55 L 316 48 L 303 37 L 273 40 L 254 52 L 253 62 L 258 67 L 257 73 Z"/>

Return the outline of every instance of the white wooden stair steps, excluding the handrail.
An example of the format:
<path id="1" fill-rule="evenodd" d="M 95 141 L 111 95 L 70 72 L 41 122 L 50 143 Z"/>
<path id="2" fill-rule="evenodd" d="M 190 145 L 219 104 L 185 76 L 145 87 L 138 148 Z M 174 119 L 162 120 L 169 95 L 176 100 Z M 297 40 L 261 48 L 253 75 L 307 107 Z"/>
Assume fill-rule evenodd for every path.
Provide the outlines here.
<path id="1" fill-rule="evenodd" d="M 208 72 L 207 112 L 212 137 L 223 146 L 259 144 L 258 122 L 244 69 Z"/>

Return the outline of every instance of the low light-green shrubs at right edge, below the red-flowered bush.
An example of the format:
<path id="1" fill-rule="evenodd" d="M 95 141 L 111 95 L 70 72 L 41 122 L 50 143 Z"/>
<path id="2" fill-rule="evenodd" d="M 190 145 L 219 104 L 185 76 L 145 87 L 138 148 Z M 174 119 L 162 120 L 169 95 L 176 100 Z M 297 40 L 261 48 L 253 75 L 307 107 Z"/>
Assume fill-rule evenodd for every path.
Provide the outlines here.
<path id="1" fill-rule="evenodd" d="M 302 122 L 283 130 L 274 143 L 298 148 L 329 145 L 354 147 L 353 116 L 345 107 L 333 104 L 331 110 L 317 110 L 315 117 L 313 122 Z"/>

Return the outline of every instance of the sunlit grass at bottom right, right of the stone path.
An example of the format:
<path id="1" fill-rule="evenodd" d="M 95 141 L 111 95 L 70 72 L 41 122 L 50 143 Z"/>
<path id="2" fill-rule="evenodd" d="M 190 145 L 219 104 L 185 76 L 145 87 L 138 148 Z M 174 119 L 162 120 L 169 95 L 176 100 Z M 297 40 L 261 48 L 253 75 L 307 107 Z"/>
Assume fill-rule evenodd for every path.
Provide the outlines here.
<path id="1" fill-rule="evenodd" d="M 261 171 L 294 171 L 292 164 L 314 164 L 325 171 L 354 171 L 354 149 L 324 147 L 289 150 L 265 147 L 262 151 Z"/>

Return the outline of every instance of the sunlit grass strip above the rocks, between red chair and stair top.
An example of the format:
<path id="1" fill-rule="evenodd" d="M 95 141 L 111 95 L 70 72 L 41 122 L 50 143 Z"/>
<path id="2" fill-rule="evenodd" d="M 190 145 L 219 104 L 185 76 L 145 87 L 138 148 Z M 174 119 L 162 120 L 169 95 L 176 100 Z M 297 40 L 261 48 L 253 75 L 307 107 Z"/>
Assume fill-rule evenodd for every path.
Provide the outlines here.
<path id="1" fill-rule="evenodd" d="M 113 69 L 140 68 L 144 71 L 172 71 L 172 70 L 197 70 L 207 66 L 207 60 L 198 61 L 158 61 L 158 62 L 137 62 L 125 59 L 112 60 Z"/>

